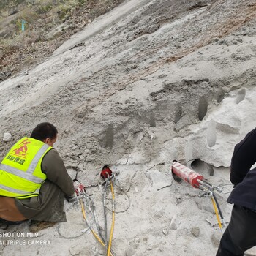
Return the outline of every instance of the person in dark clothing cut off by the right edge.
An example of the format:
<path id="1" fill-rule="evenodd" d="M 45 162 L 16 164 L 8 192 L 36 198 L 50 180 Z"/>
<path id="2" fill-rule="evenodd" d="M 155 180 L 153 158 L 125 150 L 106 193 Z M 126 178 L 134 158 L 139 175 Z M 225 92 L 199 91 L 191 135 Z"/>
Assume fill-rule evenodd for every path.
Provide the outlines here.
<path id="1" fill-rule="evenodd" d="M 256 128 L 238 143 L 231 159 L 230 181 L 234 189 L 227 198 L 233 203 L 230 223 L 217 256 L 242 256 L 256 246 Z"/>

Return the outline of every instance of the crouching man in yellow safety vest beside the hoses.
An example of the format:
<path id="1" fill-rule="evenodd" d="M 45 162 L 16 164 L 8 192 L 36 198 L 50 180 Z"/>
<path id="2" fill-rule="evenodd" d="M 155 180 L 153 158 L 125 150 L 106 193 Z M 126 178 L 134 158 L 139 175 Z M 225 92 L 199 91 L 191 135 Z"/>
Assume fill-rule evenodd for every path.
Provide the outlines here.
<path id="1" fill-rule="evenodd" d="M 58 131 L 41 123 L 22 138 L 0 164 L 0 222 L 17 225 L 26 219 L 65 222 L 64 197 L 75 189 L 58 152 Z"/>

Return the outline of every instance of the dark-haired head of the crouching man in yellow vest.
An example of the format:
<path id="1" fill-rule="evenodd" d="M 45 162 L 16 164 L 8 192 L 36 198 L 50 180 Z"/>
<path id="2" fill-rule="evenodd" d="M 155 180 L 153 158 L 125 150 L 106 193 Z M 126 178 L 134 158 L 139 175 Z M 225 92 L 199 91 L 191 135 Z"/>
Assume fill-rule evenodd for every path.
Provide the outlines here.
<path id="1" fill-rule="evenodd" d="M 48 122 L 37 124 L 30 135 L 30 138 L 41 140 L 42 142 L 53 146 L 57 140 L 58 131 L 53 124 Z"/>

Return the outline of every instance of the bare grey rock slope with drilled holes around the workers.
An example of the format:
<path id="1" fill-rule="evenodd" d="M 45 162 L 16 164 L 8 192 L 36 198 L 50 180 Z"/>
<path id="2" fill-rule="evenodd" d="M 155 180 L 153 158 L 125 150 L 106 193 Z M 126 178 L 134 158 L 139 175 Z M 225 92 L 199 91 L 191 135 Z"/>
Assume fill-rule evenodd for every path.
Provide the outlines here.
<path id="1" fill-rule="evenodd" d="M 99 172 L 105 164 L 120 171 L 115 255 L 215 255 L 221 232 L 210 198 L 173 181 L 170 166 L 176 159 L 227 184 L 217 197 L 229 221 L 233 146 L 255 127 L 255 10 L 252 0 L 124 1 L 47 61 L 0 83 L 0 134 L 12 135 L 1 157 L 50 121 L 101 227 Z M 3 254 L 104 255 L 89 231 L 59 236 L 58 228 L 63 236 L 86 228 L 80 208 L 65 207 L 68 222 L 39 233 L 50 245 L 7 245 Z"/>

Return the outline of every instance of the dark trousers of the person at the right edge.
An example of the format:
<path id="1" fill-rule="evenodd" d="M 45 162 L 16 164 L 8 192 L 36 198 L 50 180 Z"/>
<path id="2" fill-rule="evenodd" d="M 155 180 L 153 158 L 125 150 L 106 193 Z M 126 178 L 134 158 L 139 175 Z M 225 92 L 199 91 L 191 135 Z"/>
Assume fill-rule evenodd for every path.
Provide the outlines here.
<path id="1" fill-rule="evenodd" d="M 233 206 L 230 224 L 223 234 L 216 256 L 243 256 L 256 245 L 256 212 Z"/>

